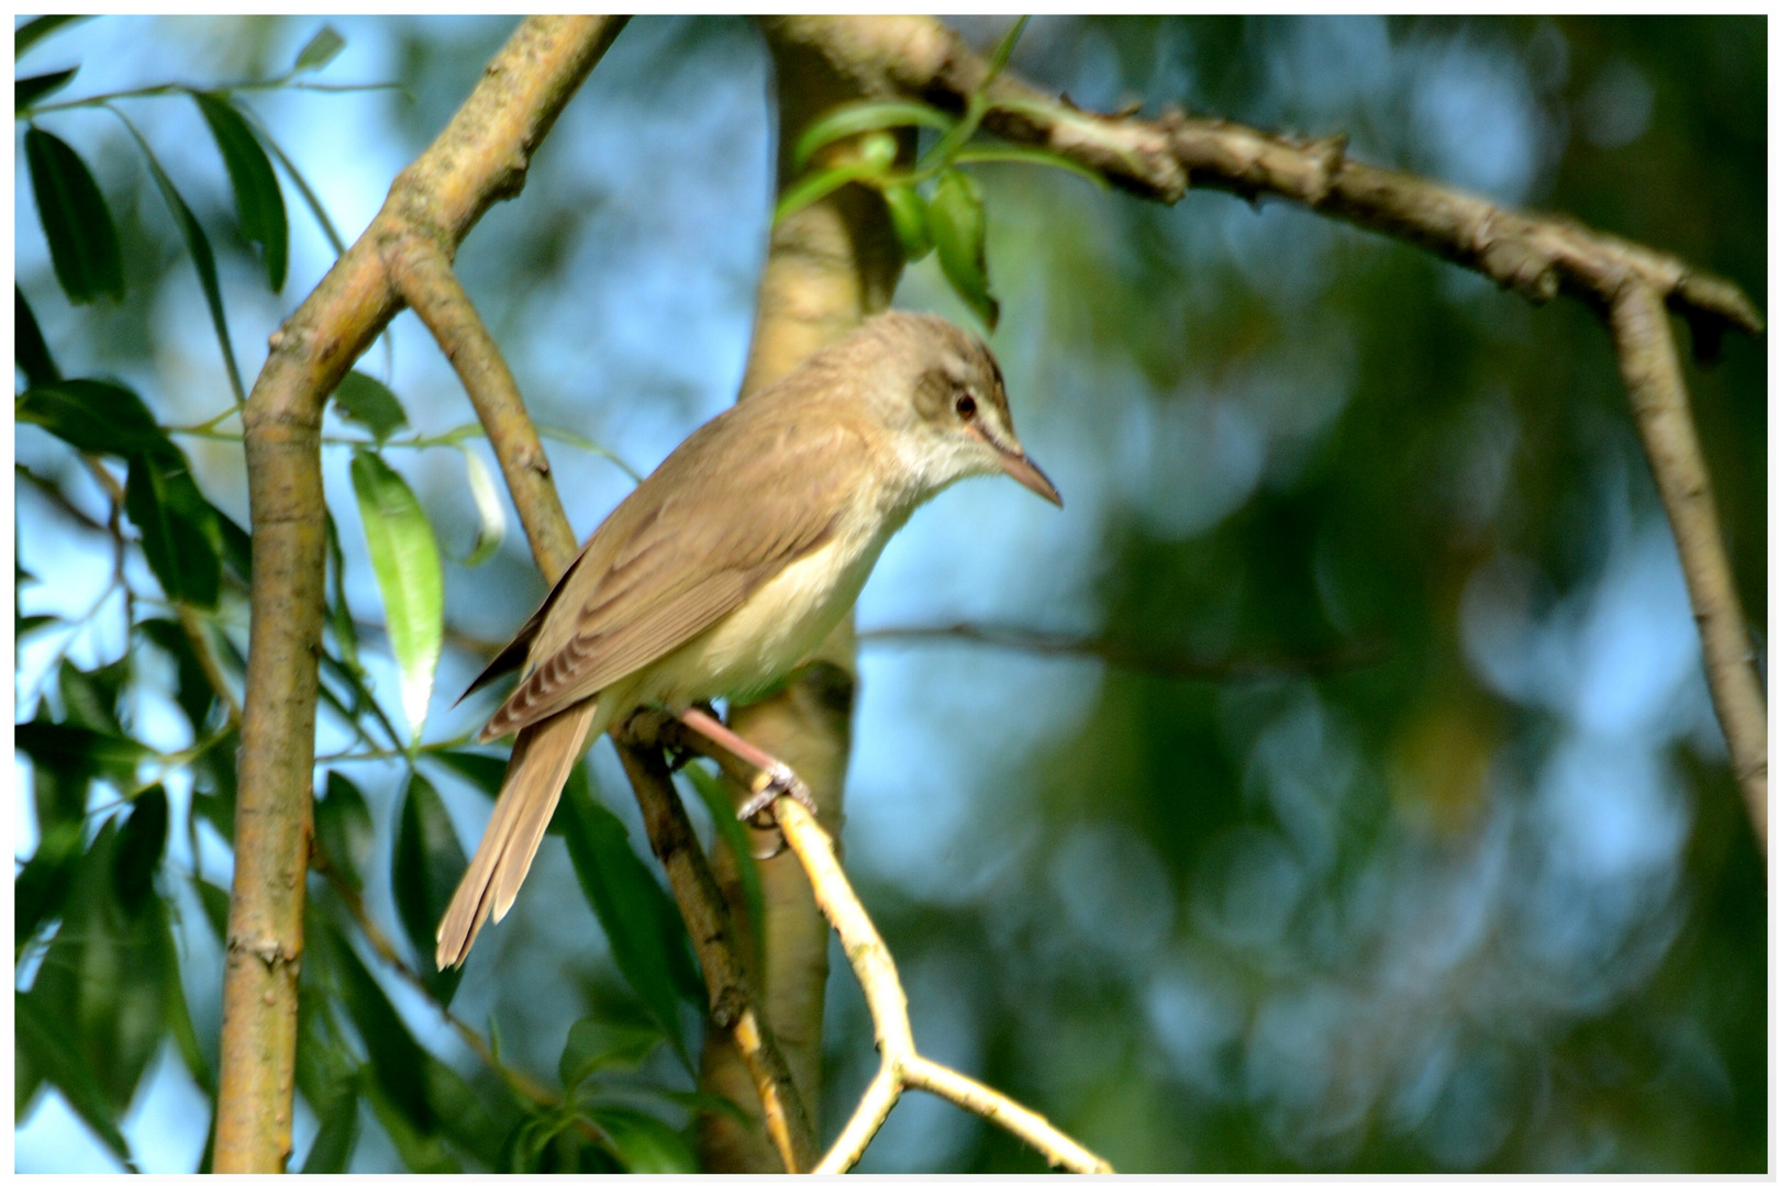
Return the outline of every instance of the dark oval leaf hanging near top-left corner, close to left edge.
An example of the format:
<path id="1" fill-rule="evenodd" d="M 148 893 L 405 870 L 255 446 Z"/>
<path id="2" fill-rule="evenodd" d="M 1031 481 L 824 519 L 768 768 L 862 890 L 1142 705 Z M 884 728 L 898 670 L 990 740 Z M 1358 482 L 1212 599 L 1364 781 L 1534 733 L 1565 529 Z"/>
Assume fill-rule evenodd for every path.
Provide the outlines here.
<path id="1" fill-rule="evenodd" d="M 43 236 L 50 240 L 55 279 L 75 304 L 123 299 L 123 254 L 117 228 L 98 181 L 80 153 L 43 128 L 25 130 L 25 164 L 37 199 Z"/>

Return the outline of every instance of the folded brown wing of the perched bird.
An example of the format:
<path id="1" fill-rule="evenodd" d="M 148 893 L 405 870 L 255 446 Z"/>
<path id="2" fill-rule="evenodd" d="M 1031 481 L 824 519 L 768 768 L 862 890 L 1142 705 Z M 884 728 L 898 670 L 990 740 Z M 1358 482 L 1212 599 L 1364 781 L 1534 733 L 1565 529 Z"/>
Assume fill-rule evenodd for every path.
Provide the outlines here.
<path id="1" fill-rule="evenodd" d="M 781 413 L 785 409 L 779 409 Z M 845 423 L 742 404 L 710 421 L 600 525 L 551 594 L 498 738 L 648 667 L 833 533 L 868 445 Z"/>

